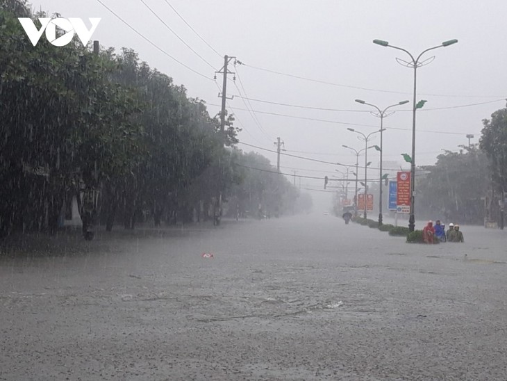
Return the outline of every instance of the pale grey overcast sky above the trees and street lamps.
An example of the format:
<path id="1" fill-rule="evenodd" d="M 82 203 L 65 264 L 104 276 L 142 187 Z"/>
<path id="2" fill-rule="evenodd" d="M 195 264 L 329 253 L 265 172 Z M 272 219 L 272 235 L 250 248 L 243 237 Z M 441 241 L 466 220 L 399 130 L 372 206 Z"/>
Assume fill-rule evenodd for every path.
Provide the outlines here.
<path id="1" fill-rule="evenodd" d="M 427 100 L 417 112 L 417 165 L 435 163 L 442 149 L 458 150 L 468 143 L 468 133 L 476 143 L 482 120 L 506 104 L 507 1 L 38 0 L 33 8 L 63 17 L 101 17 L 94 40 L 103 47 L 135 49 L 151 67 L 184 85 L 189 97 L 204 99 L 211 115 L 219 111 L 222 88 L 222 74 L 213 81 L 215 70 L 224 65 L 225 54 L 235 56 L 244 65 L 230 67 L 236 79 L 229 76 L 227 95 L 234 95 L 228 110 L 243 129 L 240 141 L 274 149 L 279 136 L 286 153 L 311 159 L 355 164 L 355 154 L 342 145 L 361 149 L 365 143 L 347 127 L 368 134 L 379 129 L 380 120 L 369 113 L 372 108 L 354 99 L 380 108 L 410 100 L 384 119 L 383 161 L 399 166 L 401 153 L 410 154 L 413 69 L 395 60 L 410 57 L 373 44 L 374 39 L 415 56 L 446 40 L 459 41 L 426 53 L 422 59 L 435 60 L 417 70 L 417 100 Z M 379 145 L 379 134 L 371 139 L 371 145 Z M 238 147 L 260 152 L 276 165 L 272 152 Z M 379 152 L 370 149 L 370 160 L 377 166 Z M 282 172 L 297 170 L 297 175 L 331 177 L 336 168 L 281 158 Z M 371 170 L 368 176 L 378 177 L 379 171 Z M 322 189 L 322 183 L 301 179 L 304 188 Z"/>

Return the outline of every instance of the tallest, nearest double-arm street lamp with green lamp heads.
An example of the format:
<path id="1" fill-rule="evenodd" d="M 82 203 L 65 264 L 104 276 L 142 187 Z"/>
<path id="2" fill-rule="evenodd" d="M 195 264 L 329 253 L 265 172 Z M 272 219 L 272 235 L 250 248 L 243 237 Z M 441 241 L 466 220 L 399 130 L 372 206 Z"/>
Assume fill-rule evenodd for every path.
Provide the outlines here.
<path id="1" fill-rule="evenodd" d="M 383 41 L 383 40 L 373 40 L 374 44 L 381 45 L 383 47 L 392 47 L 393 49 L 398 49 L 401 51 L 404 51 L 408 56 L 410 56 L 411 61 L 401 60 L 400 58 L 396 58 L 397 62 L 401 65 L 404 65 L 406 67 L 412 67 L 414 69 L 414 104 L 413 104 L 413 111 L 412 111 L 412 157 L 411 157 L 411 163 L 410 163 L 410 218 L 408 219 L 408 229 L 410 232 L 413 232 L 415 229 L 415 211 L 414 211 L 414 201 L 415 201 L 415 111 L 417 108 L 420 108 L 422 106 L 417 107 L 416 104 L 416 84 L 417 84 L 417 67 L 424 66 L 428 63 L 431 63 L 435 59 L 435 56 L 427 58 L 426 60 L 420 61 L 419 59 L 421 56 L 426 53 L 426 51 L 430 51 L 433 49 L 438 49 L 440 47 L 448 47 L 449 45 L 456 44 L 458 40 L 449 40 L 444 41 L 442 44 L 431 47 L 426 50 L 423 50 L 417 58 L 414 58 L 412 54 L 406 49 L 403 49 L 401 47 L 395 47 L 393 45 L 390 45 L 389 42 Z"/>

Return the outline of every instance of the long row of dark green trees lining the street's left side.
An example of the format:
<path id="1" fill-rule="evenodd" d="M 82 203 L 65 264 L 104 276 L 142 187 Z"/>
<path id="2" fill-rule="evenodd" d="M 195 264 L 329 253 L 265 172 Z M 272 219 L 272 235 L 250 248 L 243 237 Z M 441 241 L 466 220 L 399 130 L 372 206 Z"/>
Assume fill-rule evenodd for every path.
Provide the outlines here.
<path id="1" fill-rule="evenodd" d="M 311 207 L 267 159 L 233 147 L 234 115 L 222 136 L 205 102 L 132 49 L 94 54 L 44 38 L 33 47 L 16 17 L 36 18 L 25 0 L 0 0 L 0 173 L 8 179 L 0 234 L 53 232 L 74 196 L 82 218 L 90 212 L 83 229 L 97 216 L 108 229 L 115 216 L 129 228 L 142 215 L 156 225 L 194 211 L 206 219 L 218 195 L 244 210 L 296 211 L 297 200 Z"/>

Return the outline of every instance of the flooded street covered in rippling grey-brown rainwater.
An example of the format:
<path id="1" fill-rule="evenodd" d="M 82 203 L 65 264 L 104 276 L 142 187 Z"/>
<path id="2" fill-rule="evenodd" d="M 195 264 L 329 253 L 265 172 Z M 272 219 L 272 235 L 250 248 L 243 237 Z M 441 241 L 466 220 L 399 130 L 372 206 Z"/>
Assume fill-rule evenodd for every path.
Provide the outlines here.
<path id="1" fill-rule="evenodd" d="M 317 215 L 3 257 L 0 380 L 505 380 L 506 233 L 462 230 Z"/>

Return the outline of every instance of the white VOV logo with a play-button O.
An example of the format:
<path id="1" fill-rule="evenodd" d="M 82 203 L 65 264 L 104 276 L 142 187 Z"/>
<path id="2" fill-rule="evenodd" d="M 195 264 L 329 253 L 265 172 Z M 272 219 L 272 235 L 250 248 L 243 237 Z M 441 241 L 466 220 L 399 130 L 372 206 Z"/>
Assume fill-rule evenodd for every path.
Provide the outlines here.
<path id="1" fill-rule="evenodd" d="M 51 19 L 50 17 L 40 17 L 41 27 L 37 29 L 37 26 L 33 23 L 33 19 L 29 17 L 19 17 L 18 19 L 34 47 L 39 42 L 44 31 L 46 32 L 47 40 L 56 47 L 63 47 L 71 42 L 72 38 L 74 38 L 74 33 L 83 42 L 83 46 L 86 46 L 101 20 L 97 17 L 90 17 L 89 20 L 92 27 L 88 29 L 83 20 L 79 18 L 69 17 L 68 19 L 64 19 L 63 17 L 56 17 Z M 65 31 L 63 35 L 58 37 L 56 36 L 57 26 Z"/>

